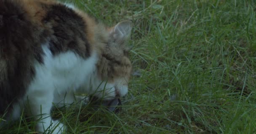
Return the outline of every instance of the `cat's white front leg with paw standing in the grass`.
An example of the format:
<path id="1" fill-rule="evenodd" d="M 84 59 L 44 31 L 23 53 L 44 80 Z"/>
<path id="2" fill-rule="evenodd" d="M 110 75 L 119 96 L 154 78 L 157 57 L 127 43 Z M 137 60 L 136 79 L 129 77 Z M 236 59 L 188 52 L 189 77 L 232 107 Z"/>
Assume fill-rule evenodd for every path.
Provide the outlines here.
<path id="1" fill-rule="evenodd" d="M 64 125 L 58 120 L 51 118 L 51 108 L 53 104 L 53 90 L 30 90 L 28 92 L 29 109 L 37 122 L 36 130 L 40 133 L 52 132 L 51 134 L 62 134 Z"/>

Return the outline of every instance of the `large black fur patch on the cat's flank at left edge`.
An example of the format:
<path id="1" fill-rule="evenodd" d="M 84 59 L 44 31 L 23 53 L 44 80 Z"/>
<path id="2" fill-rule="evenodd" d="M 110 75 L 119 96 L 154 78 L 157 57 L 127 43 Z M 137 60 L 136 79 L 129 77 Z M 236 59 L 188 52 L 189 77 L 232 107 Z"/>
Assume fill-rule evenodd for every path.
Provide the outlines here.
<path id="1" fill-rule="evenodd" d="M 44 39 L 24 12 L 19 2 L 0 0 L 0 115 L 26 93 L 34 76 L 35 55 L 42 62 L 40 41 Z"/>

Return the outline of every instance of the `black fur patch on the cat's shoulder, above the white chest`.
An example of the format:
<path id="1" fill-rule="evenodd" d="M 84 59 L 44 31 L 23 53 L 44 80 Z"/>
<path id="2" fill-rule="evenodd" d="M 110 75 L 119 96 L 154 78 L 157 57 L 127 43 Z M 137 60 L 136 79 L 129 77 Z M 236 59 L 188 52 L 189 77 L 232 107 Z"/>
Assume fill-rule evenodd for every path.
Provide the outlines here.
<path id="1" fill-rule="evenodd" d="M 83 58 L 91 55 L 85 33 L 86 24 L 75 11 L 65 5 L 52 5 L 43 23 L 50 24 L 54 32 L 50 41 L 53 55 L 70 49 Z"/>

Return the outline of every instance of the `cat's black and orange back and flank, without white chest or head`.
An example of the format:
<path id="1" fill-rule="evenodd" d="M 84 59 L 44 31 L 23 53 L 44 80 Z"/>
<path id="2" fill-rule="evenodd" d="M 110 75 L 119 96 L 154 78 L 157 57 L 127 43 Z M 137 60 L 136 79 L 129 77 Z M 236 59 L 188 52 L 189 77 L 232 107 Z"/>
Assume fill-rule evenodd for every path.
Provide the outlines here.
<path id="1" fill-rule="evenodd" d="M 97 44 L 107 42 L 98 34 L 106 29 L 96 25 L 87 14 L 55 0 L 0 0 L 0 114 L 24 96 L 36 75 L 35 62 L 46 62 L 45 51 L 53 57 L 66 52 L 91 57 Z"/>

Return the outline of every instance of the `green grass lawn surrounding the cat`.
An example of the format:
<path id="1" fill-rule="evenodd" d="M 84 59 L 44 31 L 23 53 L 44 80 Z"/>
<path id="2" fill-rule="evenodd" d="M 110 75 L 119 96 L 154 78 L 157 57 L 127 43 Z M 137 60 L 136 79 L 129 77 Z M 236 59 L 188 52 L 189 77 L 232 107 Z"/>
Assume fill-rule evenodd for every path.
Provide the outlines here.
<path id="1" fill-rule="evenodd" d="M 134 22 L 134 73 L 118 114 L 54 112 L 67 134 L 256 133 L 254 0 L 72 1 L 108 26 Z M 0 133 L 34 126 L 22 119 Z"/>

